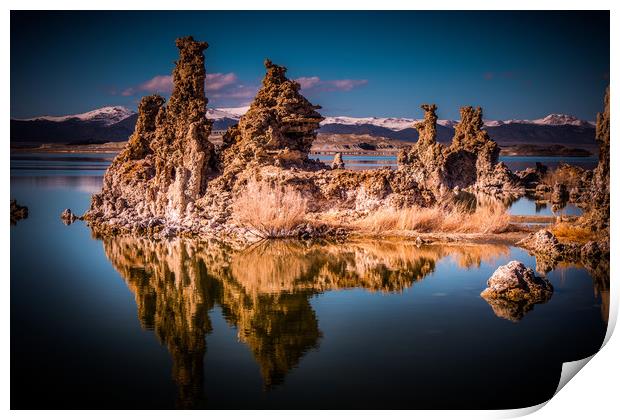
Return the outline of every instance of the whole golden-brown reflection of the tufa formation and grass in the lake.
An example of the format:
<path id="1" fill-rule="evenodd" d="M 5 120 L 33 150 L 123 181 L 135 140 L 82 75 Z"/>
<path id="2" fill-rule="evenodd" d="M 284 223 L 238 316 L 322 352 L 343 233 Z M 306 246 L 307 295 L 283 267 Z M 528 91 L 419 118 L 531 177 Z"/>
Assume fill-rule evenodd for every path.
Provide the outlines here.
<path id="1" fill-rule="evenodd" d="M 204 403 L 205 336 L 214 305 L 236 327 L 270 388 L 318 348 L 312 295 L 346 288 L 399 292 L 432 273 L 445 256 L 470 267 L 508 252 L 501 245 L 418 248 L 390 242 L 265 242 L 233 251 L 208 242 L 130 237 L 105 238 L 103 245 L 135 296 L 142 326 L 168 347 L 182 407 Z"/>

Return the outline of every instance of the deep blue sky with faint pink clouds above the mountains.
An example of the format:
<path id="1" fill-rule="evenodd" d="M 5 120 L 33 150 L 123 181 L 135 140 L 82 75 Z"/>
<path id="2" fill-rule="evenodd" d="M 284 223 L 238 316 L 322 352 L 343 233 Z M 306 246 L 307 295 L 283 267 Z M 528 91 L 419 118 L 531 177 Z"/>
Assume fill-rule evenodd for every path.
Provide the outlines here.
<path id="1" fill-rule="evenodd" d="M 11 12 L 11 117 L 166 94 L 174 39 L 207 41 L 209 106 L 249 103 L 263 61 L 324 115 L 593 120 L 609 84 L 609 12 Z"/>

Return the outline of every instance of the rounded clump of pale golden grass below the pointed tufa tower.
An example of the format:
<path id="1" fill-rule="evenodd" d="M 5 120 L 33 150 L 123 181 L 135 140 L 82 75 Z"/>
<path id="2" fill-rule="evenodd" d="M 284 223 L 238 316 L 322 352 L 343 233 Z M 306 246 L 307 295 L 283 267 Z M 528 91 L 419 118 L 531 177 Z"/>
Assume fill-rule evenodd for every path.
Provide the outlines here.
<path id="1" fill-rule="evenodd" d="M 290 186 L 250 181 L 233 206 L 236 222 L 260 238 L 284 238 L 304 222 L 307 202 Z"/>

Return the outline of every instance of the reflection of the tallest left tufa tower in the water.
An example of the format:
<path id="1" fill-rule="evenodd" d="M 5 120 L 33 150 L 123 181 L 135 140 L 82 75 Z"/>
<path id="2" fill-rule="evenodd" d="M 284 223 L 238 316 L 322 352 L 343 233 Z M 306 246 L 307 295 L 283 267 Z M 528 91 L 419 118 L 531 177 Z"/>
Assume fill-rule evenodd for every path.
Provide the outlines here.
<path id="1" fill-rule="evenodd" d="M 207 270 L 192 258 L 185 244 L 144 246 L 129 238 L 106 240 L 106 255 L 134 294 L 143 328 L 154 330 L 172 355 L 177 383 L 177 405 L 198 406 L 203 395 L 205 335 L 211 331 L 207 316 L 213 307 Z"/>

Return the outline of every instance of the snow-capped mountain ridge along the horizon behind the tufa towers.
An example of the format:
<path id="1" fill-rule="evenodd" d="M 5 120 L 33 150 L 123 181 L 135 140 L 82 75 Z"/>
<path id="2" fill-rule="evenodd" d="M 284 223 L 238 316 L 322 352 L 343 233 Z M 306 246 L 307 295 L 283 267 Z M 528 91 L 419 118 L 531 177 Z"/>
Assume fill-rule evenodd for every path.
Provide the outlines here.
<path id="1" fill-rule="evenodd" d="M 207 117 L 213 130 L 226 130 L 236 124 L 248 107 L 210 108 Z M 65 116 L 41 116 L 11 120 L 11 142 L 71 143 L 124 141 L 134 130 L 137 114 L 122 106 L 108 106 L 89 112 Z M 413 125 L 421 120 L 390 117 L 326 117 L 320 133 L 366 134 L 394 140 L 416 141 Z M 455 120 L 439 120 L 437 137 L 449 142 L 454 135 Z M 571 115 L 550 114 L 535 120 L 486 120 L 485 129 L 500 144 L 541 143 L 591 145 L 594 124 Z"/>

